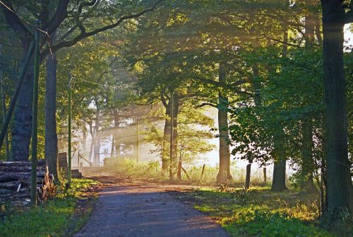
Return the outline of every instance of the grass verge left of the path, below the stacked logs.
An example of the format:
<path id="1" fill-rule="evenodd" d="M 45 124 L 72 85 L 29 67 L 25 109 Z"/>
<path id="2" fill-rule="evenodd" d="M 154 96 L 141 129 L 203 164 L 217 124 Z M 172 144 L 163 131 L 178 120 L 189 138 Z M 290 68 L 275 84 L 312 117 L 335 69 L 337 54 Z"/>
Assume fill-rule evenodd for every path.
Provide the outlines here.
<path id="1" fill-rule="evenodd" d="M 92 210 L 92 198 L 87 208 L 80 210 L 83 192 L 98 183 L 88 179 L 73 179 L 68 190 L 58 190 L 54 199 L 37 207 L 8 210 L 0 220 L 1 237 L 59 237 L 70 236 L 87 221 Z M 89 197 L 87 197 L 89 199 Z M 84 211 L 78 213 L 80 211 Z"/>

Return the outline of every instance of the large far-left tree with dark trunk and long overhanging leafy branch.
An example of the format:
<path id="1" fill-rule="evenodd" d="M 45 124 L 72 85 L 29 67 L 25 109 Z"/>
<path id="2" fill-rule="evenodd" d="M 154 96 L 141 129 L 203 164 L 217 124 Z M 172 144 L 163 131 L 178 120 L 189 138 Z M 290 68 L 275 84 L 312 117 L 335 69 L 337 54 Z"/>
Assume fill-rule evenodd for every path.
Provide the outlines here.
<path id="1" fill-rule="evenodd" d="M 52 35 L 52 33 L 62 27 L 62 23 L 68 19 L 62 30 L 63 35 L 58 35 L 58 40 L 56 40 L 55 45 L 49 43 L 47 35 L 43 35 L 41 46 L 44 47 L 44 49 L 41 52 L 41 58 L 44 59 L 48 54 L 54 53 L 63 47 L 71 47 L 87 37 L 101 33 L 104 30 L 116 28 L 128 19 L 138 18 L 145 13 L 154 11 L 157 5 L 162 1 L 163 0 L 155 1 L 152 3 L 152 6 L 145 3 L 133 4 L 130 1 L 78 1 L 71 6 L 70 1 L 59 0 L 52 18 L 49 18 L 51 15 L 49 12 L 51 9 L 49 4 L 51 4 L 51 1 L 42 1 L 40 3 L 36 1 L 26 1 L 25 3 L 4 1 L 6 6 L 1 4 L 1 8 L 3 9 L 8 25 L 11 26 L 22 42 L 23 58 L 32 40 L 32 30 L 23 23 L 14 9 L 20 7 L 23 11 L 29 13 L 29 15 L 32 14 L 32 16 L 42 21 L 42 28 L 46 30 L 47 35 Z M 36 6 L 35 10 L 33 10 L 33 6 Z M 124 8 L 121 8 L 121 6 L 124 6 Z M 69 10 L 71 7 L 73 7 L 73 11 Z M 102 9 L 104 9 L 104 15 L 100 13 Z M 107 9 L 109 9 L 109 11 L 107 11 Z M 95 19 L 97 17 L 105 17 L 109 23 L 104 25 L 98 24 L 97 27 L 97 25 L 95 25 Z M 111 21 L 112 18 L 115 19 L 113 23 Z M 100 22 L 102 23 L 104 21 Z M 11 129 L 11 151 L 13 160 L 16 161 L 28 160 L 29 157 L 30 126 L 32 120 L 32 93 L 30 93 L 30 91 L 32 91 L 32 79 L 32 64 L 30 64 L 22 90 L 20 91 L 14 112 L 13 127 Z M 55 96 L 55 94 L 52 94 L 52 96 Z M 52 107 L 54 108 L 55 106 L 52 105 Z M 51 131 L 51 133 L 54 134 L 54 130 Z"/>

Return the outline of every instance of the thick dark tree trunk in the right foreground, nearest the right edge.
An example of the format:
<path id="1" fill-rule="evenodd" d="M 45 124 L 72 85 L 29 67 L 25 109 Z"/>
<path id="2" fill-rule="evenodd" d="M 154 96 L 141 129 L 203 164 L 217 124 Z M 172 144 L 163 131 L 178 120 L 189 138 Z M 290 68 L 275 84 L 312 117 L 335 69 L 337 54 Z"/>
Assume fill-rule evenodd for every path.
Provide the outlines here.
<path id="1" fill-rule="evenodd" d="M 348 159 L 346 85 L 343 70 L 342 1 L 321 0 L 323 6 L 323 72 L 325 79 L 328 210 L 353 214 Z"/>

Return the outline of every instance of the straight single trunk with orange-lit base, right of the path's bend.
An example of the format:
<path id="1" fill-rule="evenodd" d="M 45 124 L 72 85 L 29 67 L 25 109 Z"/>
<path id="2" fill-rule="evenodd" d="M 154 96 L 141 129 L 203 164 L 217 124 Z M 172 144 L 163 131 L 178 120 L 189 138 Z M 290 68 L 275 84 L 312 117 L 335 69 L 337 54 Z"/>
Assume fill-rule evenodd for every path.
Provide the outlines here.
<path id="1" fill-rule="evenodd" d="M 220 64 L 219 81 L 226 83 L 225 64 Z M 232 180 L 230 174 L 230 151 L 229 151 L 229 127 L 228 127 L 228 98 L 218 93 L 218 130 L 220 131 L 220 168 L 217 174 L 217 183 L 224 183 L 225 180 Z"/>

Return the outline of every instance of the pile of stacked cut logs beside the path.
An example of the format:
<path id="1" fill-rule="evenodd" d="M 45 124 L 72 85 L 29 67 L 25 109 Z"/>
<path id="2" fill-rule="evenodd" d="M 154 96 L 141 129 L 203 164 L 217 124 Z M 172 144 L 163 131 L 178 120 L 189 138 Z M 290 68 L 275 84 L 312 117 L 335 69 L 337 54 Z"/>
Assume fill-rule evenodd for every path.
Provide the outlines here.
<path id="1" fill-rule="evenodd" d="M 31 163 L 30 161 L 0 162 L 0 204 L 30 203 Z M 37 202 L 42 203 L 53 192 L 54 176 L 49 174 L 44 160 L 37 166 Z"/>

